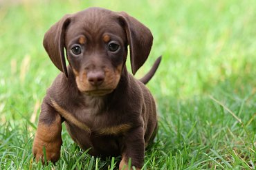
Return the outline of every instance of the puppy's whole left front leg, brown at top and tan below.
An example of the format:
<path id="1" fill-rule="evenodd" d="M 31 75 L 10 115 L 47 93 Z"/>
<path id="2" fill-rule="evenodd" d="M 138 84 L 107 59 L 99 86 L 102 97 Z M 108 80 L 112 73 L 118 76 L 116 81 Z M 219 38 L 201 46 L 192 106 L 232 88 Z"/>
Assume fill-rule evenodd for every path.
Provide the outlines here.
<path id="1" fill-rule="evenodd" d="M 42 103 L 41 113 L 35 140 L 33 143 L 33 154 L 35 160 L 44 163 L 43 147 L 46 149 L 46 160 L 57 162 L 60 159 L 60 147 L 62 145 L 62 118 L 60 114 L 46 103 Z"/>

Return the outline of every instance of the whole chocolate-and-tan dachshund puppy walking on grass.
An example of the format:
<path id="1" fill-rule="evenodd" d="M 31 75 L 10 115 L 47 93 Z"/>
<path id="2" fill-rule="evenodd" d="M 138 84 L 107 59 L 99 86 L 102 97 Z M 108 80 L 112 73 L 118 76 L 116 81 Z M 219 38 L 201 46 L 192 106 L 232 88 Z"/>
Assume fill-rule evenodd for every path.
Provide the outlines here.
<path id="1" fill-rule="evenodd" d="M 156 104 L 145 87 L 161 56 L 134 78 L 152 47 L 150 30 L 125 12 L 88 8 L 66 14 L 44 36 L 44 48 L 61 71 L 47 89 L 33 142 L 35 160 L 57 162 L 62 123 L 92 156 L 122 156 L 119 169 L 143 167 L 145 148 L 158 128 Z M 131 72 L 127 72 L 129 47 Z M 66 60 L 69 65 L 66 66 Z"/>

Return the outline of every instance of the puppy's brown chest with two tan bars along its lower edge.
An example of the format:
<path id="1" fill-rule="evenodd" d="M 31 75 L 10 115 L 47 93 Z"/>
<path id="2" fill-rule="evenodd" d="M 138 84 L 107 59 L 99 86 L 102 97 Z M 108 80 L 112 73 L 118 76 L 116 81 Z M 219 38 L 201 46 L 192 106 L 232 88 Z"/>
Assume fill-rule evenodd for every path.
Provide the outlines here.
<path id="1" fill-rule="evenodd" d="M 58 105 L 54 100 L 52 103 L 66 123 L 89 133 L 118 135 L 131 128 L 131 123 L 123 117 L 123 111 L 104 105 L 102 100 L 90 100 L 67 108 Z"/>

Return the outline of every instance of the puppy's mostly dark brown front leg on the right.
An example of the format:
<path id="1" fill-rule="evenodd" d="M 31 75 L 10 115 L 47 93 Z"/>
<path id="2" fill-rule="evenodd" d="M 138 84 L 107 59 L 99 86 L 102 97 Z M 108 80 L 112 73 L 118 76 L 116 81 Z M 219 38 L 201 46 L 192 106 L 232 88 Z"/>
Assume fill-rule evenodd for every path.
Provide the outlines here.
<path id="1" fill-rule="evenodd" d="M 129 170 L 128 161 L 131 158 L 131 167 L 136 167 L 137 170 L 143 167 L 145 140 L 143 127 L 131 129 L 125 134 L 124 149 L 122 151 L 122 160 L 119 164 L 119 169 Z"/>

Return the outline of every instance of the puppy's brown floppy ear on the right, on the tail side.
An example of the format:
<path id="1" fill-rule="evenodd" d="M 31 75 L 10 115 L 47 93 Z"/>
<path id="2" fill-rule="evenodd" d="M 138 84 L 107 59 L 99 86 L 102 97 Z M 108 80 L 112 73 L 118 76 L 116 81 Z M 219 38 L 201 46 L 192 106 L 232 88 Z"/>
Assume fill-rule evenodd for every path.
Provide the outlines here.
<path id="1" fill-rule="evenodd" d="M 125 25 L 125 32 L 130 49 L 131 71 L 132 74 L 135 74 L 149 56 L 153 36 L 143 23 L 129 16 L 129 14 L 120 12 L 120 19 Z"/>

